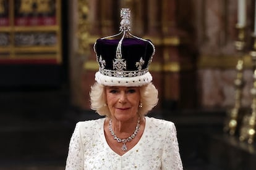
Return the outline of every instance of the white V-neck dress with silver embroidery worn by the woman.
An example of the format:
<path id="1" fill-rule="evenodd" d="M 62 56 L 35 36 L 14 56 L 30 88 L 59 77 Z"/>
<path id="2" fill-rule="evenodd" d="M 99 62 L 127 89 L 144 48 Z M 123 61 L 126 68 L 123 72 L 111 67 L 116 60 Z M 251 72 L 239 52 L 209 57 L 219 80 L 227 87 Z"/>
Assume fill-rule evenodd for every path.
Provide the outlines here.
<path id="1" fill-rule="evenodd" d="M 106 142 L 105 118 L 77 123 L 69 144 L 66 170 L 183 169 L 174 123 L 147 116 L 145 120 L 141 139 L 122 156 Z"/>

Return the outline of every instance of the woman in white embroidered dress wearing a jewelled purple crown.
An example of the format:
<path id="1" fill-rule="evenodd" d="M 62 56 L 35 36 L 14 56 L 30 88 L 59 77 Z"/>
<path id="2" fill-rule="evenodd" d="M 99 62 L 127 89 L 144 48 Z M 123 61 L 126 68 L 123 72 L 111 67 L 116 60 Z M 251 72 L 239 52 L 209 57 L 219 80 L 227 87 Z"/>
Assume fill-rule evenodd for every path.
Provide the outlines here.
<path id="1" fill-rule="evenodd" d="M 105 118 L 77 123 L 66 169 L 182 169 L 174 124 L 146 116 L 158 102 L 148 71 L 155 47 L 122 22 L 121 30 L 121 39 L 95 42 L 100 68 L 91 107 Z M 124 38 L 127 32 L 133 37 Z"/>

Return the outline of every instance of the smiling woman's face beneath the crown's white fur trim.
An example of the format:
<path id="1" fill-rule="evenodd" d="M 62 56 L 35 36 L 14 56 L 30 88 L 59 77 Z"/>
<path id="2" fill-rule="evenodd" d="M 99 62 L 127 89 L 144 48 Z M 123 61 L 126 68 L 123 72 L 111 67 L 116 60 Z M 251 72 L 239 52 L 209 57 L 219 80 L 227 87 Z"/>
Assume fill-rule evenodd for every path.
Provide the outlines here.
<path id="1" fill-rule="evenodd" d="M 139 87 L 106 86 L 106 102 L 113 119 L 127 121 L 137 118 Z"/>

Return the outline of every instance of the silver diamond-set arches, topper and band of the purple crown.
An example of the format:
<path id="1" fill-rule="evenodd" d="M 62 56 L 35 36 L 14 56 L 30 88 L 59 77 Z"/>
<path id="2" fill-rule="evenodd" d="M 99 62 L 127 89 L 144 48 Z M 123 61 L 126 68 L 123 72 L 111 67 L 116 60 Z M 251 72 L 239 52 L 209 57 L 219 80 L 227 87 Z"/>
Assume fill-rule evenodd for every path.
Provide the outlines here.
<path id="1" fill-rule="evenodd" d="M 150 65 L 152 59 L 153 59 L 153 55 L 155 54 L 155 46 L 148 40 L 145 40 L 143 38 L 139 38 L 137 36 L 134 36 L 133 34 L 131 34 L 130 31 L 130 9 L 127 8 L 122 8 L 121 12 L 121 22 L 120 22 L 120 27 L 119 27 L 119 31 L 121 31 L 118 34 L 115 34 L 113 36 L 107 36 L 105 38 L 101 38 L 101 39 L 107 39 L 107 38 L 112 38 L 114 36 L 118 36 L 119 34 L 123 33 L 121 40 L 118 42 L 117 45 L 117 49 L 116 49 L 116 59 L 113 60 L 113 70 L 106 70 L 105 69 L 105 65 L 106 65 L 106 61 L 102 59 L 101 55 L 99 57 L 98 63 L 100 65 L 100 73 L 106 76 L 115 76 L 115 77 L 134 77 L 134 76 L 141 76 L 141 75 L 145 75 L 145 73 L 148 72 L 148 66 Z M 150 60 L 148 61 L 148 65 L 147 68 L 142 70 L 142 66 L 145 63 L 145 61 L 142 59 L 142 57 L 140 57 L 139 62 L 135 63 L 135 66 L 137 67 L 137 71 L 126 71 L 126 60 L 122 59 L 122 52 L 121 52 L 121 47 L 122 47 L 122 41 L 124 39 L 124 37 L 126 36 L 126 34 L 129 34 L 130 36 L 140 39 L 142 41 L 148 41 L 150 42 L 151 46 L 153 47 L 153 53 L 150 57 Z M 95 46 L 94 46 L 95 49 Z"/>

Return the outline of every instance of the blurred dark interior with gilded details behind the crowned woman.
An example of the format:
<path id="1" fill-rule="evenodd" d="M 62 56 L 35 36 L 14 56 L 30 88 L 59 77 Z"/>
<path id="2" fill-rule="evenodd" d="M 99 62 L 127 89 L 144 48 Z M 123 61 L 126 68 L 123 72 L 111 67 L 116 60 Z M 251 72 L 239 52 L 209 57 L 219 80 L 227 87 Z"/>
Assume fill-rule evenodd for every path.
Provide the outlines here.
<path id="1" fill-rule="evenodd" d="M 122 7 L 155 44 L 148 116 L 176 124 L 184 169 L 256 169 L 254 0 L 0 0 L 0 169 L 64 169 Z"/>

